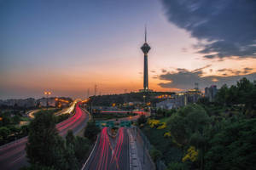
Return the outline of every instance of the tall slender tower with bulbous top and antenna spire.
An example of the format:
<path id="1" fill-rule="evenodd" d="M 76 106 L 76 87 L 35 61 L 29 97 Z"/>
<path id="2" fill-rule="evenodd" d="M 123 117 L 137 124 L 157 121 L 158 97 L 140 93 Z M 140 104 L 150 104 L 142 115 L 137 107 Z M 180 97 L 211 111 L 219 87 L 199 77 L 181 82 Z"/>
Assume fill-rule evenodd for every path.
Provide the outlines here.
<path id="1" fill-rule="evenodd" d="M 143 91 L 148 92 L 148 51 L 150 47 L 147 43 L 147 27 L 145 26 L 145 42 L 141 48 L 144 54 L 144 78 L 143 78 Z"/>

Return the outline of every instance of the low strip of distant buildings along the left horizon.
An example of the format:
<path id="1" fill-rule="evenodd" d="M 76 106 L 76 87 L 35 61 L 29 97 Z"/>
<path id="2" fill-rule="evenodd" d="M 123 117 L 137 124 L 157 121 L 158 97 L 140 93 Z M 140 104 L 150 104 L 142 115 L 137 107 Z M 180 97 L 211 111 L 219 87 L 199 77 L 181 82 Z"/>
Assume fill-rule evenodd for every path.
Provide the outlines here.
<path id="1" fill-rule="evenodd" d="M 55 106 L 65 106 L 69 105 L 69 103 L 72 101 L 70 98 L 41 98 L 41 99 L 5 99 L 0 100 L 0 106 L 6 105 L 9 107 L 17 106 L 17 107 L 26 107 L 26 108 L 32 108 L 32 107 L 46 107 L 47 103 L 48 106 L 55 107 Z"/>

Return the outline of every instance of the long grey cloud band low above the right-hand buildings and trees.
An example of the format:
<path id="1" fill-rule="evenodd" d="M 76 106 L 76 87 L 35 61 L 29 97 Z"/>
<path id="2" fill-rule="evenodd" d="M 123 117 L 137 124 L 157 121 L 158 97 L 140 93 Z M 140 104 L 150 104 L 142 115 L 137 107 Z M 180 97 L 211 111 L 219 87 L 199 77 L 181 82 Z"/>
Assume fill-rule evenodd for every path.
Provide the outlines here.
<path id="1" fill-rule="evenodd" d="M 237 72 L 237 71 L 235 71 Z M 161 88 L 181 88 L 188 89 L 194 88 L 195 82 L 199 83 L 200 88 L 205 88 L 212 84 L 215 84 L 220 88 L 224 83 L 227 85 L 235 84 L 242 77 L 247 77 L 249 80 L 256 80 L 256 72 L 248 75 L 234 75 L 227 76 L 226 73 L 223 74 L 225 77 L 220 76 L 209 76 L 202 77 L 202 71 L 188 71 L 186 69 L 177 69 L 176 72 L 167 72 L 159 76 L 160 80 L 165 80 L 168 82 L 159 83 Z M 217 82 L 216 82 L 217 81 Z"/>

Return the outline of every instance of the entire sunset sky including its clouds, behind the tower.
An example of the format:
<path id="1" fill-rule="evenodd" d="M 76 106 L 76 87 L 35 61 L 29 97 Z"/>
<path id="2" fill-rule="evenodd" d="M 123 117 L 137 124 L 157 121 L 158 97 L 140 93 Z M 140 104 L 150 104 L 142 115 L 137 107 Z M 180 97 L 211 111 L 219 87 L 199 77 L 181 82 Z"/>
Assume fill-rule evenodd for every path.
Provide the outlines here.
<path id="1" fill-rule="evenodd" d="M 194 3 L 192 3 L 194 2 Z M 225 2 L 225 3 L 224 3 Z M 253 0 L 0 0 L 0 99 L 256 80 Z"/>

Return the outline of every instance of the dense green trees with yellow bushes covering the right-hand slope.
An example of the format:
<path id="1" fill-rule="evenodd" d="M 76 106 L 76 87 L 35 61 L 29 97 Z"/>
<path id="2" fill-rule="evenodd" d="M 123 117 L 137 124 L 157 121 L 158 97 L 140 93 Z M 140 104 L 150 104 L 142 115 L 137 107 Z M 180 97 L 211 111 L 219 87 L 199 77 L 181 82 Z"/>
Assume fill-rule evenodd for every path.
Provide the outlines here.
<path id="1" fill-rule="evenodd" d="M 155 162 L 169 170 L 254 169 L 256 82 L 224 85 L 214 102 L 202 98 L 177 111 L 158 110 L 138 126 L 154 146 Z M 146 119 L 146 120 L 145 120 Z"/>

